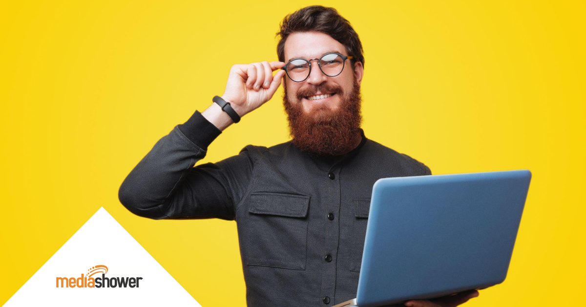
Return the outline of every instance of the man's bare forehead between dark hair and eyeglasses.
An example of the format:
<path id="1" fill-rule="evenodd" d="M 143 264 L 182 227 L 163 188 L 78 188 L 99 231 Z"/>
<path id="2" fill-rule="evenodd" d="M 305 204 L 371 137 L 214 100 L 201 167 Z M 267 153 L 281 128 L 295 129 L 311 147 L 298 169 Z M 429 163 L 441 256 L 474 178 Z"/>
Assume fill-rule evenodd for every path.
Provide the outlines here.
<path id="1" fill-rule="evenodd" d="M 328 52 L 346 55 L 346 48 L 322 32 L 295 32 L 285 41 L 285 62 L 295 58 L 315 59 Z"/>

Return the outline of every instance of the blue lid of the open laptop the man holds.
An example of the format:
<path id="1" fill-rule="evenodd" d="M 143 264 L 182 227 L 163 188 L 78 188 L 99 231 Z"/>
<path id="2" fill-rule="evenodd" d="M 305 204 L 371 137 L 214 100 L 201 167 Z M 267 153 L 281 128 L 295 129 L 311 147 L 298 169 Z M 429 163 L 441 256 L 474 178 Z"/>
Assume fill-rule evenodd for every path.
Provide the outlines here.
<path id="1" fill-rule="evenodd" d="M 374 183 L 356 303 L 374 307 L 505 280 L 529 170 Z"/>

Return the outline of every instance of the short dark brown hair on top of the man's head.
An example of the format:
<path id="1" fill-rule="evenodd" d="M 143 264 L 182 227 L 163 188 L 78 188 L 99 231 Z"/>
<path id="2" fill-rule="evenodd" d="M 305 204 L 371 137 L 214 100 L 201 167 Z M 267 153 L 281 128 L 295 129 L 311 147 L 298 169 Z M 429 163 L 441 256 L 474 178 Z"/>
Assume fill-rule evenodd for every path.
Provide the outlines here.
<path id="1" fill-rule="evenodd" d="M 294 32 L 322 32 L 340 42 L 346 47 L 348 55 L 353 56 L 352 65 L 362 62 L 364 55 L 360 38 L 350 22 L 343 18 L 335 8 L 326 8 L 321 5 L 306 6 L 283 18 L 281 29 L 277 36 L 281 36 L 277 44 L 277 55 L 281 62 L 285 62 L 285 41 L 289 34 Z"/>

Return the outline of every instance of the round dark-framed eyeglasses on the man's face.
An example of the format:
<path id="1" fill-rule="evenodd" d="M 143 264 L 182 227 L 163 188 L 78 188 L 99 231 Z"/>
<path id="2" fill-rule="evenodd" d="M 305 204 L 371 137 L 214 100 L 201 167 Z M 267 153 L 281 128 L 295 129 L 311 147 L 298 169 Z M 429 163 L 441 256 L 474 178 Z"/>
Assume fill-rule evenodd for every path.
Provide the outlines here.
<path id="1" fill-rule="evenodd" d="M 319 59 L 292 59 L 281 69 L 285 70 L 289 79 L 294 82 L 304 82 L 309 77 L 309 73 L 311 73 L 312 60 L 318 60 L 319 69 L 324 75 L 335 77 L 344 70 L 346 59 L 352 58 L 352 56 L 341 55 L 338 52 L 330 52 L 322 55 Z"/>

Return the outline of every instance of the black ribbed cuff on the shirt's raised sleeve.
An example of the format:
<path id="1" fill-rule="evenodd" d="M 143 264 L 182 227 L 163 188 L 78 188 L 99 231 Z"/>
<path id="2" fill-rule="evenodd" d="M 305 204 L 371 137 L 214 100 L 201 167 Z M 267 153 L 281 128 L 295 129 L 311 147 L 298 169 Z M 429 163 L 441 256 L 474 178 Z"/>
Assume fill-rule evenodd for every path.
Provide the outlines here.
<path id="1" fill-rule="evenodd" d="M 222 130 L 217 129 L 197 110 L 189 117 L 187 122 L 179 124 L 178 127 L 189 140 L 203 150 L 207 150 L 207 146 L 222 133 Z"/>

